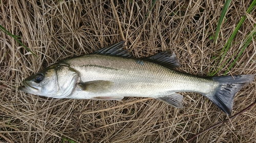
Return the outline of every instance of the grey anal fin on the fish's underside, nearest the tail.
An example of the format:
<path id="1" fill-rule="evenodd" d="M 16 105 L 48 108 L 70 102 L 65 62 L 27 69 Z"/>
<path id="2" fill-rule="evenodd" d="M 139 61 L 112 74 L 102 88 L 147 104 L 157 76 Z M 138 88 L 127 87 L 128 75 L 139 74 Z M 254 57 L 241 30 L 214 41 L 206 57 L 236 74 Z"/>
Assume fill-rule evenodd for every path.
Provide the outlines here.
<path id="1" fill-rule="evenodd" d="M 178 93 L 173 93 L 171 95 L 164 96 L 164 97 L 158 97 L 156 99 L 163 101 L 163 102 L 165 102 L 169 105 L 172 105 L 174 107 L 183 108 L 183 106 L 181 104 L 183 96 Z"/>

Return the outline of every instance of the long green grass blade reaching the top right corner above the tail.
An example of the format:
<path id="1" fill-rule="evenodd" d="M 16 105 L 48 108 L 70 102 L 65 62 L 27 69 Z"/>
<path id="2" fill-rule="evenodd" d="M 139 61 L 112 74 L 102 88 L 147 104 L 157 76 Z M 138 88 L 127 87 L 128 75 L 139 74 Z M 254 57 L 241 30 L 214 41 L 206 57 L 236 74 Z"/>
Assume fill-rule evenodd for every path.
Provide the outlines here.
<path id="1" fill-rule="evenodd" d="M 248 14 L 250 14 L 250 12 L 253 10 L 253 8 L 255 7 L 255 5 L 256 5 L 256 0 L 253 0 L 252 3 L 251 3 L 251 5 L 249 6 L 249 8 L 246 10 L 246 12 L 247 12 Z M 221 50 L 221 52 L 220 52 L 220 55 L 216 58 L 216 61 L 221 58 L 219 64 L 217 65 L 217 67 L 219 67 L 219 68 L 218 68 L 216 71 L 212 71 L 212 68 L 214 68 L 215 65 L 216 65 L 216 64 L 214 64 L 214 66 L 212 66 L 212 68 L 210 69 L 211 72 L 208 74 L 208 76 L 214 76 L 215 74 L 217 74 L 217 73 L 225 66 L 226 63 L 223 64 L 223 65 L 221 65 L 221 63 L 222 63 L 222 61 L 224 60 L 224 57 L 225 57 L 225 55 L 226 55 L 228 49 L 230 48 L 230 45 L 231 45 L 231 43 L 232 43 L 234 37 L 236 37 L 236 35 L 237 35 L 237 33 L 238 33 L 240 27 L 242 26 L 243 22 L 245 21 L 245 19 L 246 19 L 246 16 L 243 15 L 242 18 L 241 18 L 241 20 L 239 21 L 238 25 L 237 25 L 236 28 L 234 29 L 233 33 L 232 33 L 231 36 L 229 37 L 227 43 L 226 43 L 226 44 L 224 45 L 224 47 L 222 48 L 222 50 Z M 220 66 L 220 65 L 221 65 L 221 66 Z"/>

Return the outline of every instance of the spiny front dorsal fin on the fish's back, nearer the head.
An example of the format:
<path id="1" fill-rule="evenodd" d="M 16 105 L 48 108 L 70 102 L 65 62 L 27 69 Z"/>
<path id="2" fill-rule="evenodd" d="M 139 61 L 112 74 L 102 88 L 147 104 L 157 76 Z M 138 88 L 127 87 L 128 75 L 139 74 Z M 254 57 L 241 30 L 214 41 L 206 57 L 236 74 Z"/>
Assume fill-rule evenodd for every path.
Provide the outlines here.
<path id="1" fill-rule="evenodd" d="M 121 41 L 119 43 L 115 43 L 109 46 L 106 46 L 102 49 L 99 49 L 97 51 L 95 51 L 93 54 L 107 54 L 107 55 L 114 55 L 114 56 L 122 56 L 122 57 L 126 57 L 129 58 L 131 57 L 130 53 L 127 50 L 124 50 L 122 48 L 124 48 L 126 45 L 124 45 L 125 41 Z"/>

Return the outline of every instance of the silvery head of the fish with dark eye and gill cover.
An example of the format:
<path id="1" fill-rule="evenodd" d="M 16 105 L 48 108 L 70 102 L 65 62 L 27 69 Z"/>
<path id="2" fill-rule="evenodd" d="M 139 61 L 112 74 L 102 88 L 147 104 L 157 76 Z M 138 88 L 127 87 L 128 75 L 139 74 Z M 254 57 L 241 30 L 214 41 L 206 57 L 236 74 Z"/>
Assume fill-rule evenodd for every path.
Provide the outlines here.
<path id="1" fill-rule="evenodd" d="M 18 90 L 39 96 L 65 98 L 75 89 L 78 80 L 75 70 L 56 64 L 23 80 Z"/>

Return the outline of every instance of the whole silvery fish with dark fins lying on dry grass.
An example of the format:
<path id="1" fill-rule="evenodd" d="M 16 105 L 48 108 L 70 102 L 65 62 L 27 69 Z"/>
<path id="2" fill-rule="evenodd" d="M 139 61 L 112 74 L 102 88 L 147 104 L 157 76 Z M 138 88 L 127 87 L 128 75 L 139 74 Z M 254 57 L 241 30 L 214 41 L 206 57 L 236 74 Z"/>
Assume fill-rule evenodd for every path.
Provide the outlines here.
<path id="1" fill-rule="evenodd" d="M 199 93 L 231 115 L 237 92 L 254 74 L 201 77 L 176 70 L 175 52 L 162 51 L 134 58 L 124 41 L 91 54 L 59 61 L 27 77 L 18 90 L 39 96 L 69 99 L 122 100 L 148 97 L 183 108 L 178 92 Z"/>

